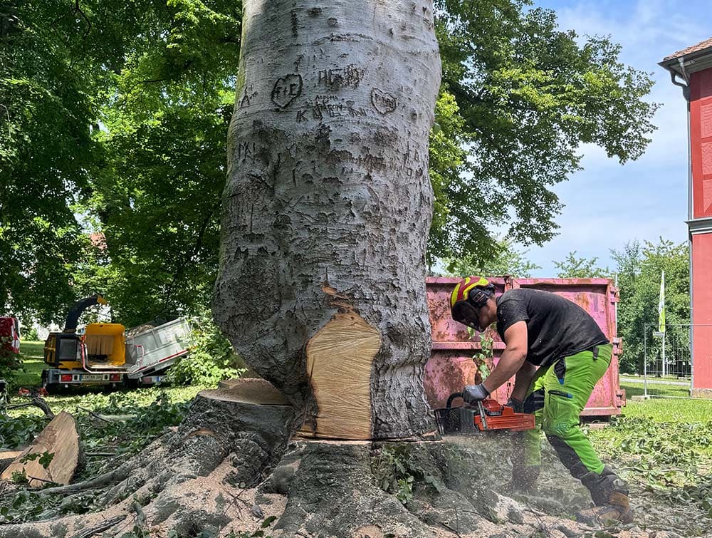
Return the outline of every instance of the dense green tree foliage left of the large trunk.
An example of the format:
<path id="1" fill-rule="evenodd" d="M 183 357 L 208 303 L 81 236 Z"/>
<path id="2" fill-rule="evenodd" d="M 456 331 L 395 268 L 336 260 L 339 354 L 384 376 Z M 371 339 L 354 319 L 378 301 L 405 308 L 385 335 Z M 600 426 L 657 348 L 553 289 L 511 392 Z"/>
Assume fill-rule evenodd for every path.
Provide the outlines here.
<path id="1" fill-rule="evenodd" d="M 1 271 L 0 310 L 48 321 L 100 292 L 134 324 L 204 306 L 239 2 L 51 0 L 3 10 L 0 263 L 10 270 Z"/>

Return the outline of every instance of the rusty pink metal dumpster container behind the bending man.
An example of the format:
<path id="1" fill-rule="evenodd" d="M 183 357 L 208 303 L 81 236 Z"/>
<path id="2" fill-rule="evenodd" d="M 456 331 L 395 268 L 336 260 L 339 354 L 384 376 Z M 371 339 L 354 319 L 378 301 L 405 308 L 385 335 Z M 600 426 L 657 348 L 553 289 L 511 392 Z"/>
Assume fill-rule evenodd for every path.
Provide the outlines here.
<path id="1" fill-rule="evenodd" d="M 597 321 L 613 342 L 613 359 L 597 383 L 582 415 L 606 417 L 619 415 L 625 405 L 625 393 L 619 387 L 618 355 L 620 339 L 616 334 L 615 303 L 618 290 L 608 279 L 513 279 L 508 276 L 489 279 L 496 294 L 515 288 L 551 291 L 574 301 Z M 477 364 L 472 356 L 481 350 L 478 333 L 471 337 L 464 325 L 450 318 L 450 294 L 459 279 L 430 277 L 426 279 L 433 351 L 425 366 L 425 393 L 433 408 L 442 408 L 451 393 L 479 381 Z M 493 363 L 496 364 L 504 343 L 496 331 L 488 330 L 493 339 Z M 498 388 L 493 398 L 505 402 L 514 386 L 514 378 Z"/>

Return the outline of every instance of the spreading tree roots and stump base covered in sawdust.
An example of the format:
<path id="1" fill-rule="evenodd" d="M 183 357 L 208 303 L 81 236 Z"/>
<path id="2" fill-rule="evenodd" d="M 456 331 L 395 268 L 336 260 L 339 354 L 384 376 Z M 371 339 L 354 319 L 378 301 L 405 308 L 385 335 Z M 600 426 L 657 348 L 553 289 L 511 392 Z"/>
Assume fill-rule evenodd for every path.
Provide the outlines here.
<path id="1" fill-rule="evenodd" d="M 590 531 L 562 517 L 590 503 L 563 467 L 553 468 L 551 482 L 543 478 L 539 497 L 501 494 L 511 473 L 506 437 L 287 445 L 291 420 L 286 405 L 200 395 L 179 428 L 115 470 L 39 492 L 48 501 L 61 497 L 66 511 L 83 505 L 86 513 L 0 525 L 0 538 L 120 537 L 135 528 L 157 538 L 169 532 L 228 537 L 251 534 L 272 516 L 268 532 L 274 537 L 528 536 L 537 529 L 564 537 Z"/>

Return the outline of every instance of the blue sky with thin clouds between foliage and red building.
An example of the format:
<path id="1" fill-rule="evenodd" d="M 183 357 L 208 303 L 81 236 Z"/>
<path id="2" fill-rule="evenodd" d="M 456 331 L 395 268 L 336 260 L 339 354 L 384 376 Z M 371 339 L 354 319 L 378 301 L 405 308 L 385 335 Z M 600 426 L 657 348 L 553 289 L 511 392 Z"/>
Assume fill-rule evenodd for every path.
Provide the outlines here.
<path id="1" fill-rule="evenodd" d="M 525 247 L 541 269 L 533 276 L 555 276 L 553 261 L 576 251 L 615 269 L 610 249 L 638 239 L 687 240 L 687 115 L 681 88 L 657 65 L 665 56 L 712 36 L 710 0 L 540 0 L 553 9 L 560 29 L 580 36 L 610 36 L 622 45 L 621 60 L 651 73 L 649 100 L 661 103 L 658 127 L 645 154 L 620 165 L 592 145 L 581 148 L 584 170 L 554 187 L 565 205 L 556 222 L 559 234 L 543 247 Z"/>

